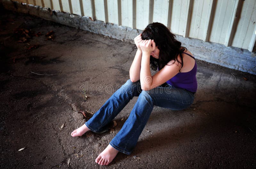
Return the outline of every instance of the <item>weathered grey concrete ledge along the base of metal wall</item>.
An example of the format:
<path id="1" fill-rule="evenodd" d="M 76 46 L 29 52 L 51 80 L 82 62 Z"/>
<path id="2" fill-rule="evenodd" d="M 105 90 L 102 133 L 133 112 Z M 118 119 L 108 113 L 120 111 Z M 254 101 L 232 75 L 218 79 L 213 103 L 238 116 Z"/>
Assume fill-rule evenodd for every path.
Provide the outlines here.
<path id="1" fill-rule="evenodd" d="M 6 10 L 28 13 L 63 25 L 103 34 L 119 40 L 130 41 L 131 43 L 133 43 L 134 37 L 141 33 L 141 30 L 138 29 L 117 26 L 116 24 L 105 23 L 99 20 L 92 21 L 88 17 L 81 17 L 60 11 L 51 11 L 48 8 L 39 6 L 12 2 L 10 0 L 2 0 L 0 3 L 3 4 Z M 218 43 L 184 38 L 179 35 L 177 35 L 177 38 L 197 59 L 256 74 L 256 54 L 254 52 L 235 47 L 226 47 Z"/>

